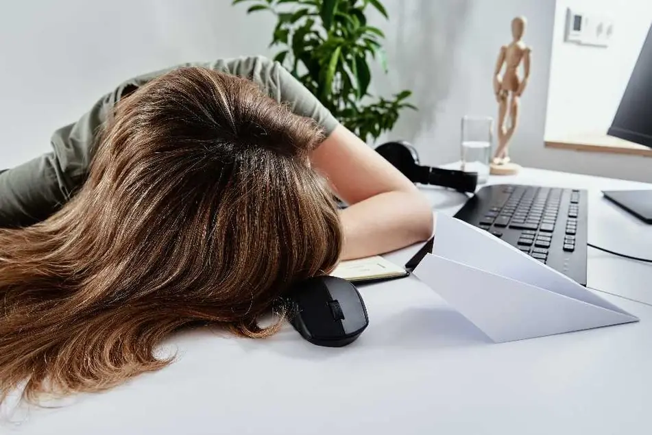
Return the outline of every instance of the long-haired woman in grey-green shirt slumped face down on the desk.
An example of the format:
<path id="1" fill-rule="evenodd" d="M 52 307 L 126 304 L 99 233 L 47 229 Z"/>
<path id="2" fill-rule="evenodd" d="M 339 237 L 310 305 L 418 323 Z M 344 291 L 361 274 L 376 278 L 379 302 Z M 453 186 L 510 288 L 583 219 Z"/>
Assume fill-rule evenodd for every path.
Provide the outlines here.
<path id="1" fill-rule="evenodd" d="M 432 232 L 414 186 L 263 58 L 125 82 L 53 146 L 0 174 L 0 402 L 158 369 L 186 325 L 267 336 L 294 282 Z"/>

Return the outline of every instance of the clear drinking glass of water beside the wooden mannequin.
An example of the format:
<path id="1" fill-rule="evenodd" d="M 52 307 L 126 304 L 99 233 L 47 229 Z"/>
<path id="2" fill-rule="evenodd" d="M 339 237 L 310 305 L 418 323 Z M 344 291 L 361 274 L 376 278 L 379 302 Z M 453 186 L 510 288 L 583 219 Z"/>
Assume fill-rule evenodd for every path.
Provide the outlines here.
<path id="1" fill-rule="evenodd" d="M 464 116 L 462 118 L 461 152 L 462 171 L 478 173 L 478 183 L 489 179 L 492 154 L 494 119 L 490 116 Z"/>

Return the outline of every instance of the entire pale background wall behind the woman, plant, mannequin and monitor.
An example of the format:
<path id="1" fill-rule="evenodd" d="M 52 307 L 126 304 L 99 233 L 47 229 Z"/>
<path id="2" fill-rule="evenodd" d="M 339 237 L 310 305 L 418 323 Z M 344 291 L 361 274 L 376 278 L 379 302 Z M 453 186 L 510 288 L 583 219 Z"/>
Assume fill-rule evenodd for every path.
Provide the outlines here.
<path id="1" fill-rule="evenodd" d="M 570 120 L 581 125 L 589 117 L 613 115 L 605 109 L 584 116 L 593 95 L 607 92 L 609 99 L 620 99 L 652 20 L 649 0 L 385 0 L 383 5 L 389 19 L 370 10 L 369 20 L 385 32 L 389 72 L 372 64 L 370 91 L 391 95 L 408 88 L 419 110 L 402 112 L 376 143 L 408 140 L 424 164 L 459 160 L 461 117 L 497 116 L 494 65 L 500 46 L 511 42 L 511 19 L 522 15 L 528 18 L 524 41 L 533 47 L 533 58 L 512 159 L 523 166 L 652 181 L 650 158 L 544 143 L 548 133 L 565 134 Z M 579 54 L 585 47 L 564 46 L 569 7 L 613 18 L 611 45 L 589 47 L 588 55 Z M 269 48 L 275 22 L 271 14 L 247 14 L 230 0 L 1 3 L 0 166 L 49 151 L 53 130 L 76 121 L 134 75 L 195 60 L 272 57 L 278 52 Z M 605 65 L 612 67 L 601 72 Z M 587 77 L 593 78 L 585 82 Z"/>

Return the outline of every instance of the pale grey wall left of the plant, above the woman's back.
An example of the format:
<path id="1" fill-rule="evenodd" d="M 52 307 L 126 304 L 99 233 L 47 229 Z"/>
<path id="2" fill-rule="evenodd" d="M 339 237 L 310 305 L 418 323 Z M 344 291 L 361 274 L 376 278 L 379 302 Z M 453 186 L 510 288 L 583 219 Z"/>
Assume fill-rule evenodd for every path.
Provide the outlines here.
<path id="1" fill-rule="evenodd" d="M 129 77 L 191 60 L 267 54 L 274 21 L 229 0 L 0 3 L 0 168 L 50 150 Z"/>

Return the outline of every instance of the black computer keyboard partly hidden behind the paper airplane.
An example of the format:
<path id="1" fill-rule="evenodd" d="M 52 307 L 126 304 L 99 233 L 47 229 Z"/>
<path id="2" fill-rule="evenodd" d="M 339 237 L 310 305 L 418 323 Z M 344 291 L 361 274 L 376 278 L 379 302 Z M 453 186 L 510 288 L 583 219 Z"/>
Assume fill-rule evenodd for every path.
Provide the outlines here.
<path id="1" fill-rule="evenodd" d="M 455 217 L 585 286 L 587 215 L 585 190 L 499 184 L 478 190 Z M 406 264 L 407 269 L 432 249 L 431 239 Z"/>

